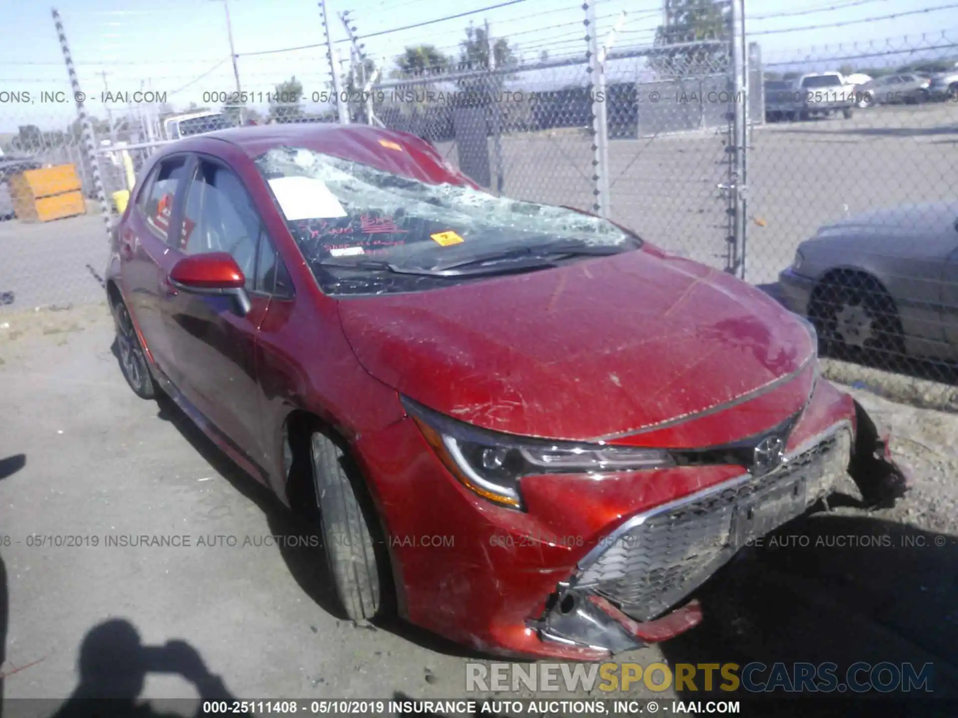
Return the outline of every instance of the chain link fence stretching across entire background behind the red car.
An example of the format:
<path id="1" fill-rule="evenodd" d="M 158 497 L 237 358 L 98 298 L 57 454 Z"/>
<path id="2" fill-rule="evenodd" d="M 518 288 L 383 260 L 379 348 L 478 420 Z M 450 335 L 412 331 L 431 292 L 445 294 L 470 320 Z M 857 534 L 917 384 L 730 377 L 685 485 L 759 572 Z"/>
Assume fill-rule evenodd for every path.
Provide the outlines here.
<path id="1" fill-rule="evenodd" d="M 315 68 L 280 84 L 246 73 L 235 94 L 198 85 L 192 108 L 141 93 L 88 119 L 92 151 L 75 82 L 43 90 L 61 101 L 42 122 L 38 95 L 8 104 L 0 311 L 101 298 L 99 200 L 115 217 L 157 147 L 348 119 L 419 135 L 490 191 L 604 214 L 760 285 L 810 317 L 827 354 L 954 382 L 955 34 L 790 52 L 746 35 L 737 68 L 730 22 L 709 40 L 613 43 L 587 31 L 589 6 L 554 57 L 404 71 L 354 41 L 338 97 Z M 490 50 L 510 39 L 486 33 Z"/>

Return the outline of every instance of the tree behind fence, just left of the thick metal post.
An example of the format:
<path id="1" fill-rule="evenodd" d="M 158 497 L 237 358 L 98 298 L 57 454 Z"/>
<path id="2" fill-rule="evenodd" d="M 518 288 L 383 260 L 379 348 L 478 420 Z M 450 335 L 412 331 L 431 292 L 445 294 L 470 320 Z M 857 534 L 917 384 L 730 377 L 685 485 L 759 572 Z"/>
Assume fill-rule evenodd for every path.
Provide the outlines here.
<path id="1" fill-rule="evenodd" d="M 671 0 L 671 23 L 655 31 L 650 66 L 660 75 L 714 75 L 729 66 L 730 4 Z M 690 44 L 697 43 L 697 44 Z"/>

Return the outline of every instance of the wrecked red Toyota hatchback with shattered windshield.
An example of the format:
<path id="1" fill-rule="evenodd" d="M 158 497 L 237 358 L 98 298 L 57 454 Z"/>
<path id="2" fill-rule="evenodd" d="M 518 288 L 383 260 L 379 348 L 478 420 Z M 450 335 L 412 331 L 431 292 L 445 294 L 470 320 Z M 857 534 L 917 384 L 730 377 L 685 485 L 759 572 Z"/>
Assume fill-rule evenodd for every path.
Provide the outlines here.
<path id="1" fill-rule="evenodd" d="M 320 522 L 356 620 L 597 659 L 695 625 L 696 588 L 846 471 L 902 485 L 810 325 L 412 135 L 166 146 L 106 278 L 130 386 Z"/>

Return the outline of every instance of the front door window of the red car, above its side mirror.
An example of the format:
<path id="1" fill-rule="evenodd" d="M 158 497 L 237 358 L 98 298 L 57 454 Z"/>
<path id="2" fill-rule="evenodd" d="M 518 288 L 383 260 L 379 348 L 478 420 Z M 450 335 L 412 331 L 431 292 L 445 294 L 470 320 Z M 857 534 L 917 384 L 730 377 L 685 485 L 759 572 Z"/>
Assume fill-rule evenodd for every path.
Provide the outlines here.
<path id="1" fill-rule="evenodd" d="M 257 240 L 262 222 L 239 177 L 201 162 L 183 213 L 180 247 L 188 255 L 226 252 L 239 264 L 246 288 L 255 288 Z"/>

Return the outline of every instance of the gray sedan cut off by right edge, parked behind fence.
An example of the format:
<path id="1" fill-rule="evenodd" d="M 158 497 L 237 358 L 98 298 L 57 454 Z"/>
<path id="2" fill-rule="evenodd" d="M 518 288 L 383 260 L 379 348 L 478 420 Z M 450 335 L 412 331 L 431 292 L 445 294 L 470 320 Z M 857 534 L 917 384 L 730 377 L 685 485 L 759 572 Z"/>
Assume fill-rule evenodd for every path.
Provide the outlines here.
<path id="1" fill-rule="evenodd" d="M 823 350 L 958 360 L 958 201 L 858 214 L 802 242 L 780 298 Z"/>

